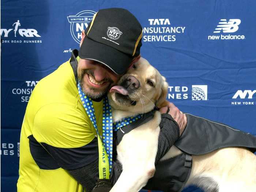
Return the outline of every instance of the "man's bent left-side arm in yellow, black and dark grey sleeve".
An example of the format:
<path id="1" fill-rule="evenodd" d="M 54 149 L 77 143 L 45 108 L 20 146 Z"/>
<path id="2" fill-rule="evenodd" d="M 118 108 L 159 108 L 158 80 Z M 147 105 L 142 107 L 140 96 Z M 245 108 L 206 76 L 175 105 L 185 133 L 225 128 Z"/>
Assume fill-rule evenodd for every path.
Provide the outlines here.
<path id="1" fill-rule="evenodd" d="M 98 178 L 98 140 L 82 112 L 61 103 L 44 106 L 35 116 L 32 134 L 30 151 L 39 168 L 51 162 L 49 169 L 61 167 L 92 189 Z"/>

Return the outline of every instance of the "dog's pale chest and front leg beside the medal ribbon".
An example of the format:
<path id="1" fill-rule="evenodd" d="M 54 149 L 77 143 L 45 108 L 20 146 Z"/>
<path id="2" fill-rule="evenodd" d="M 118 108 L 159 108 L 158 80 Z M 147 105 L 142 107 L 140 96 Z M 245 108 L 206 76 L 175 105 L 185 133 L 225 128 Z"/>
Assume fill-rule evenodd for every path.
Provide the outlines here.
<path id="1" fill-rule="evenodd" d="M 117 146 L 123 172 L 111 192 L 137 192 L 153 177 L 160 121 L 161 114 L 157 111 L 153 119 L 123 136 Z M 132 185 L 125 185 L 126 182 Z"/>

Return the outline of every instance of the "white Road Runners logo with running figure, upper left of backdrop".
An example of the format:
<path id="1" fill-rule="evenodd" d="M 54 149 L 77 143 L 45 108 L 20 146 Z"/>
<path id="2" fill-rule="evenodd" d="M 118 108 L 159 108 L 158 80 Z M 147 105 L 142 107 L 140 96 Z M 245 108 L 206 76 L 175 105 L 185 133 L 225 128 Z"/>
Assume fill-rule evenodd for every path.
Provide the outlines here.
<path id="1" fill-rule="evenodd" d="M 23 29 L 19 19 L 12 24 L 12 27 L 11 29 L 1 29 L 1 43 L 42 43 L 42 40 L 38 40 L 38 37 L 41 36 L 37 30 Z M 29 40 L 24 38 L 29 38 Z M 35 38 L 36 40 L 34 40 Z"/>

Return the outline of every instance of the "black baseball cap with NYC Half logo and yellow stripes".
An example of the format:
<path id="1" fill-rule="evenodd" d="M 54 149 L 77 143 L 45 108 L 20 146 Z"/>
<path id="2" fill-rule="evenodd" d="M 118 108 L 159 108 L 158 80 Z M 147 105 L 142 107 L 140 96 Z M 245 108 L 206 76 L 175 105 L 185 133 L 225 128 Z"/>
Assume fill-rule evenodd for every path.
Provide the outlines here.
<path id="1" fill-rule="evenodd" d="M 85 33 L 79 57 L 98 61 L 118 75 L 124 74 L 133 57 L 140 54 L 142 26 L 128 10 L 99 10 Z"/>

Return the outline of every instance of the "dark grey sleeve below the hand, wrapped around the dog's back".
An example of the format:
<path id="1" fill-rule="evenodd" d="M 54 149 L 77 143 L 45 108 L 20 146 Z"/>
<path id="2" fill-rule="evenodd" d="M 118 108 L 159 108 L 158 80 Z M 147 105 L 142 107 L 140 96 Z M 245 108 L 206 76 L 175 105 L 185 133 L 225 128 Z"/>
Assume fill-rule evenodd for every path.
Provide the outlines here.
<path id="1" fill-rule="evenodd" d="M 161 131 L 158 137 L 158 149 L 157 156 L 155 158 L 155 164 L 169 151 L 172 145 L 180 136 L 180 129 L 176 121 L 170 116 L 170 114 L 161 114 Z"/>

